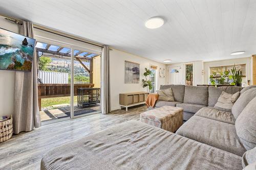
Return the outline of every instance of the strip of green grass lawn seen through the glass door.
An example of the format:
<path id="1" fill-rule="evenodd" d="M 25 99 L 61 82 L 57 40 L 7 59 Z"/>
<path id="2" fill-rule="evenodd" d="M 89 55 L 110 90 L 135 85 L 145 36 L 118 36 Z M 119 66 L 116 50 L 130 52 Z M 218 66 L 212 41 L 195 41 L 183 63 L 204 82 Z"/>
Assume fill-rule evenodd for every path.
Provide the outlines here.
<path id="1" fill-rule="evenodd" d="M 74 96 L 74 103 L 77 103 L 77 96 Z M 60 98 L 47 98 L 41 99 L 41 107 L 50 107 L 52 105 L 59 104 L 70 104 L 70 97 L 60 97 Z"/>

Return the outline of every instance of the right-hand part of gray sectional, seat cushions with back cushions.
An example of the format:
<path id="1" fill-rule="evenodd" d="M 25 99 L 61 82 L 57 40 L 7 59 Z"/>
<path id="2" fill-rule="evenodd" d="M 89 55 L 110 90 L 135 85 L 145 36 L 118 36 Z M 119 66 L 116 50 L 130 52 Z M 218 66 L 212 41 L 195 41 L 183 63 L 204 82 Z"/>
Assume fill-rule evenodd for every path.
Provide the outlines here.
<path id="1" fill-rule="evenodd" d="M 232 112 L 211 107 L 200 109 L 176 134 L 238 156 L 256 150 L 256 88 L 241 91 Z"/>

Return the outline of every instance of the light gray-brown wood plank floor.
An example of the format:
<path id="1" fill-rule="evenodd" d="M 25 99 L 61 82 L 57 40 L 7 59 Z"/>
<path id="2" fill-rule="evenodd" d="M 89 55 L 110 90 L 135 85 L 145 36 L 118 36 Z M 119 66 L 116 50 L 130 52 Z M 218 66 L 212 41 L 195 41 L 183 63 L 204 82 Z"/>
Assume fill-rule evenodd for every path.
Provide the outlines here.
<path id="1" fill-rule="evenodd" d="M 111 114 L 93 114 L 14 135 L 0 143 L 0 169 L 40 169 L 42 155 L 52 148 L 127 120 L 139 120 L 144 111 L 146 106 L 131 108 L 127 112 L 116 110 Z"/>

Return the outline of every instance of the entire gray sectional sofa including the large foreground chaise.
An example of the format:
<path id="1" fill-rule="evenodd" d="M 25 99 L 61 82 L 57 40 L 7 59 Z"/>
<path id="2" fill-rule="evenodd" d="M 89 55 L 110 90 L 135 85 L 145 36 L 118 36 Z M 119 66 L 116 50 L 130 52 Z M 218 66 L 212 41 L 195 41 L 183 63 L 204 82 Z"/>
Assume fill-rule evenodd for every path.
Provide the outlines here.
<path id="1" fill-rule="evenodd" d="M 256 88 L 161 86 L 167 87 L 172 87 L 176 102 L 158 101 L 157 107 L 183 107 L 190 117 L 176 133 L 130 120 L 49 151 L 41 169 L 256 166 Z M 222 91 L 240 91 L 232 110 L 214 107 Z"/>

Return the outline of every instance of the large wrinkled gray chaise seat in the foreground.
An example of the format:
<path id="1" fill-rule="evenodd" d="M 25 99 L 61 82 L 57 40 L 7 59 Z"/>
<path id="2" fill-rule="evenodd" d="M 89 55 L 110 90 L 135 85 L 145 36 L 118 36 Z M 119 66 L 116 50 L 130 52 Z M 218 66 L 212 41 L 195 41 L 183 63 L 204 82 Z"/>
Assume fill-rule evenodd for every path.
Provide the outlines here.
<path id="1" fill-rule="evenodd" d="M 240 156 L 136 120 L 46 153 L 41 169 L 242 169 Z"/>

